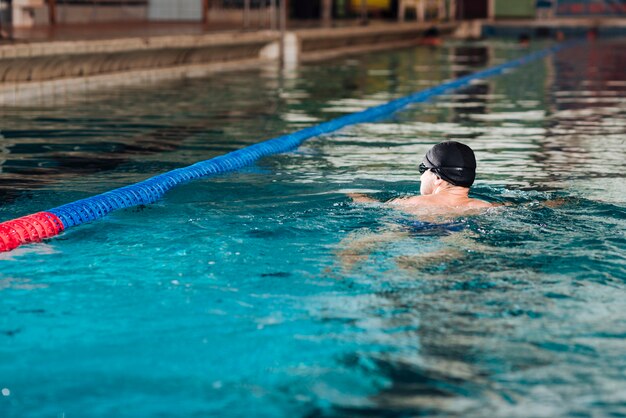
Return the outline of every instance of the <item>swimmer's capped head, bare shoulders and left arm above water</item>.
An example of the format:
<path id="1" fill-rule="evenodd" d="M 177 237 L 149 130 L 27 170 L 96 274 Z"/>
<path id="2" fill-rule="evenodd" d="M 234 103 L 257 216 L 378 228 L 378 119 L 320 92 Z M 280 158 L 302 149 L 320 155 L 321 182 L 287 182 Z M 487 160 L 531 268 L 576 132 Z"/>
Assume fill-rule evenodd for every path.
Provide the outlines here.
<path id="1" fill-rule="evenodd" d="M 386 204 L 407 212 L 431 215 L 460 214 L 492 207 L 469 197 L 476 178 L 476 157 L 465 144 L 445 141 L 433 146 L 419 166 L 420 196 L 392 199 Z M 368 196 L 352 193 L 356 203 L 379 203 Z"/>

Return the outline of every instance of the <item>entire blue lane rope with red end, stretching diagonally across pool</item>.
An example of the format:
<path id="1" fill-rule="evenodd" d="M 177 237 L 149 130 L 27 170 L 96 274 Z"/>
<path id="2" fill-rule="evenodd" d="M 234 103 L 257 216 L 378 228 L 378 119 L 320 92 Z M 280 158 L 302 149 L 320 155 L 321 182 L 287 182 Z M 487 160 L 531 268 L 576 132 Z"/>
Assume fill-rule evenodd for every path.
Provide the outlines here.
<path id="1" fill-rule="evenodd" d="M 103 218 L 108 213 L 118 209 L 154 203 L 168 190 L 179 184 L 201 177 L 238 170 L 262 157 L 291 151 L 307 139 L 328 134 L 349 125 L 378 120 L 409 104 L 423 103 L 435 96 L 466 87 L 475 80 L 500 75 L 508 69 L 544 58 L 577 43 L 569 42 L 533 52 L 516 60 L 445 82 L 361 112 L 250 145 L 188 167 L 178 168 L 130 186 L 68 203 L 45 212 L 0 223 L 0 252 L 11 251 L 23 244 L 41 242 L 52 238 L 68 228 Z"/>

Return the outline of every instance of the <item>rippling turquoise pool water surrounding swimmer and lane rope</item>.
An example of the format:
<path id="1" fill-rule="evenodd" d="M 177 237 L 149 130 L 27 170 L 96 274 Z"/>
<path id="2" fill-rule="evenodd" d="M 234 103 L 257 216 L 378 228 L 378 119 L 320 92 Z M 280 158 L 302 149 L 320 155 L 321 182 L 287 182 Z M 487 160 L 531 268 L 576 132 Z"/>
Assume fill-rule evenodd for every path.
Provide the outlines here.
<path id="1" fill-rule="evenodd" d="M 568 50 L 0 259 L 0 415 L 626 415 L 624 41 Z M 540 46 L 537 46 L 540 47 Z M 0 216 L 52 208 L 526 51 L 351 57 L 0 110 Z M 411 233 L 434 143 L 509 202 Z M 488 413 L 486 413 L 488 411 Z"/>

